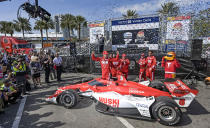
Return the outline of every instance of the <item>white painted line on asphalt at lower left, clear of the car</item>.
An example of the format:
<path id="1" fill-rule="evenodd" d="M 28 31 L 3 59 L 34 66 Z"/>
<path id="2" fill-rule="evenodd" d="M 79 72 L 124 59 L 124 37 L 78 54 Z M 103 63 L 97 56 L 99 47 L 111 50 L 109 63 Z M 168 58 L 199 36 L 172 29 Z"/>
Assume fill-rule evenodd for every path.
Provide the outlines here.
<path id="1" fill-rule="evenodd" d="M 18 128 L 19 127 L 19 123 L 20 123 L 20 120 L 21 120 L 21 117 L 22 117 L 22 114 L 23 114 L 23 109 L 24 109 L 26 99 L 27 99 L 27 96 L 23 96 L 23 97 L 24 98 L 21 100 L 21 103 L 20 103 L 19 109 L 17 111 L 15 120 L 12 124 L 12 128 Z"/>

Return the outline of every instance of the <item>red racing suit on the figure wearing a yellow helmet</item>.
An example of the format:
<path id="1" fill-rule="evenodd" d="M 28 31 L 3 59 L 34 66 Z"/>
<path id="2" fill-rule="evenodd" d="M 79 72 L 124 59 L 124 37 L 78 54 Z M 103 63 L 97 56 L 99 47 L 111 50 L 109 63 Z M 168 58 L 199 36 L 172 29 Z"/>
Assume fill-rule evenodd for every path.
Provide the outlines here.
<path id="1" fill-rule="evenodd" d="M 174 60 L 165 60 L 162 58 L 161 66 L 165 68 L 165 79 L 166 78 L 175 78 L 176 77 L 176 68 L 180 68 L 180 63 L 176 59 Z"/>

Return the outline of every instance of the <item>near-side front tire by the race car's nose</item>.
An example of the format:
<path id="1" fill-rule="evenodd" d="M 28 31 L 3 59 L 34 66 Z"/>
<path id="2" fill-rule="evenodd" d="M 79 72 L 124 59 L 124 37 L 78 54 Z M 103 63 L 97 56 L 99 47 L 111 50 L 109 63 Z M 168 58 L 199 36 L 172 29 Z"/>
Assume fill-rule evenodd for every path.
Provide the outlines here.
<path id="1" fill-rule="evenodd" d="M 59 96 L 59 101 L 59 103 L 65 108 L 70 109 L 77 105 L 79 95 L 75 90 L 67 90 L 61 93 Z"/>

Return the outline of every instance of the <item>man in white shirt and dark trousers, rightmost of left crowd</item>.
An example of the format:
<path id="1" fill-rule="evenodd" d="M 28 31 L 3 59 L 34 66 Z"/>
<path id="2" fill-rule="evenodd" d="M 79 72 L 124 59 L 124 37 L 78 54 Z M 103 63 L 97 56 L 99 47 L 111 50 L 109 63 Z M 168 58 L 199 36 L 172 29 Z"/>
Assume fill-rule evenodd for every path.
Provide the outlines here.
<path id="1" fill-rule="evenodd" d="M 61 81 L 61 73 L 62 73 L 62 58 L 58 53 L 55 54 L 55 58 L 53 59 L 54 67 L 57 72 L 57 81 Z"/>

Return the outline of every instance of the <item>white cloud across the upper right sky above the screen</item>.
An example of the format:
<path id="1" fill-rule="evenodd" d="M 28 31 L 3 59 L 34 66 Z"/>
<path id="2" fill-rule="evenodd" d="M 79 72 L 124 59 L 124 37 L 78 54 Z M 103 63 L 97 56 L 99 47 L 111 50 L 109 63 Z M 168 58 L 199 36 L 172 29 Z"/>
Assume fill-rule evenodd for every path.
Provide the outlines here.
<path id="1" fill-rule="evenodd" d="M 161 8 L 161 4 L 166 2 L 177 3 L 179 7 L 189 7 L 198 3 L 205 3 L 209 0 L 153 0 L 149 2 L 144 2 L 140 4 L 126 5 L 114 8 L 113 11 L 116 13 L 126 13 L 127 10 L 132 9 L 140 13 L 155 13 L 158 9 Z"/>

